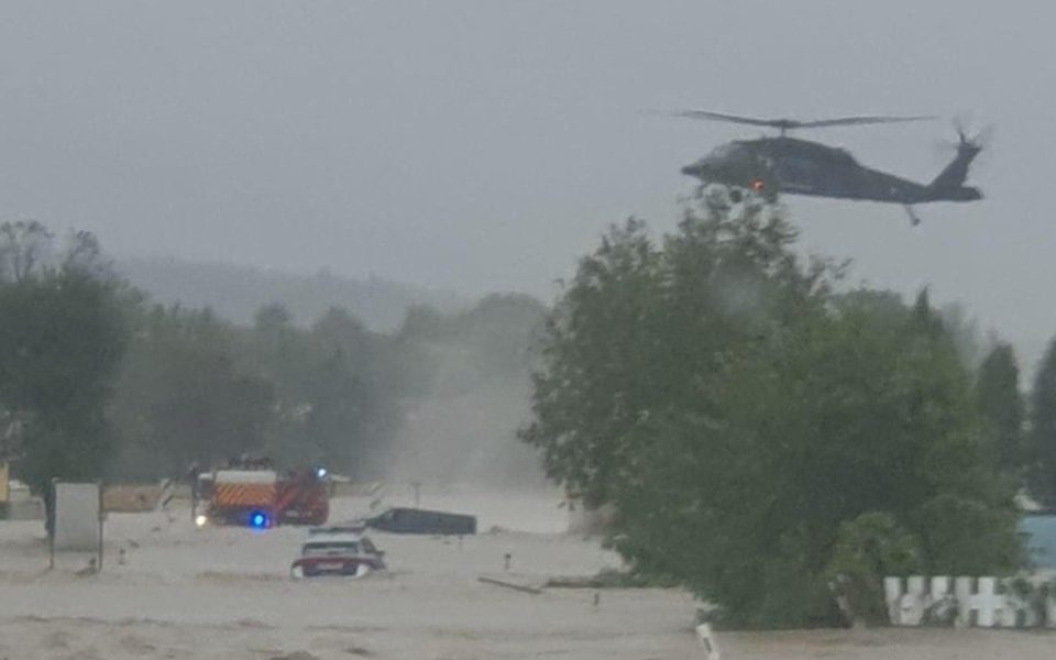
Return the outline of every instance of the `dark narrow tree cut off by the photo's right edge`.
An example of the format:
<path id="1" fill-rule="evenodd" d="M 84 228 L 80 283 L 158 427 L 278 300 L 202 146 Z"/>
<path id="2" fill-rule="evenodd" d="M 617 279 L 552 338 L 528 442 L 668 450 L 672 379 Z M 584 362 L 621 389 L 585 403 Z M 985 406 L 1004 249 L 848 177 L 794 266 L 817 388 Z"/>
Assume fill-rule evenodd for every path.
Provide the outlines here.
<path id="1" fill-rule="evenodd" d="M 1031 392 L 1030 486 L 1047 506 L 1056 506 L 1056 338 L 1034 376 Z"/>

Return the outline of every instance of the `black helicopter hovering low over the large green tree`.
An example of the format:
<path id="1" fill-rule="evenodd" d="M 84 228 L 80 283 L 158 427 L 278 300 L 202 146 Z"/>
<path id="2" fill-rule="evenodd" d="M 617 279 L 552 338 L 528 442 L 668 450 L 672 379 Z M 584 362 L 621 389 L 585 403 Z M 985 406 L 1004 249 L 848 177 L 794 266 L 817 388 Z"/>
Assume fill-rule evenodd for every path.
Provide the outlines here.
<path id="1" fill-rule="evenodd" d="M 788 132 L 795 129 L 933 119 L 930 117 L 843 117 L 796 121 L 755 119 L 706 110 L 686 110 L 675 116 L 769 127 L 780 131 L 777 138 L 729 142 L 682 168 L 682 174 L 694 176 L 705 184 L 727 186 L 734 201 L 741 199 L 741 190 L 749 190 L 769 201 L 776 200 L 778 194 L 785 193 L 900 204 L 915 226 L 921 221 L 913 211 L 915 204 L 982 199 L 979 188 L 965 186 L 968 166 L 982 151 L 981 140 L 979 136 L 969 139 L 959 125 L 956 127 L 958 143 L 954 160 L 930 184 L 919 184 L 860 165 L 843 148 L 788 136 Z"/>

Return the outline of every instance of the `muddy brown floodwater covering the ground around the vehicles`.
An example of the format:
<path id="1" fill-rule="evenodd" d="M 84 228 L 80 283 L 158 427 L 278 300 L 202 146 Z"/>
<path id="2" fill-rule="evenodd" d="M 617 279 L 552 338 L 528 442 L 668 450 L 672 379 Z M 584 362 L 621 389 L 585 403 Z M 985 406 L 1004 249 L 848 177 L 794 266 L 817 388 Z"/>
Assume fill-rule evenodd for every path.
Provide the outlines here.
<path id="1" fill-rule="evenodd" d="M 409 504 L 402 488 L 386 502 Z M 612 590 L 595 602 L 593 590 L 535 594 L 479 581 L 541 585 L 618 568 L 596 540 L 564 534 L 559 503 L 549 494 L 427 491 L 422 506 L 476 514 L 481 534 L 372 534 L 391 570 L 360 580 L 290 580 L 304 529 L 196 529 L 182 507 L 111 514 L 97 575 L 84 574 L 84 556 L 61 557 L 46 571 L 42 525 L 0 522 L 0 658 L 703 658 L 694 602 L 680 591 Z M 332 521 L 367 510 L 365 498 L 337 499 Z M 719 632 L 718 642 L 729 660 L 1056 652 L 1056 635 L 1001 630 Z"/>

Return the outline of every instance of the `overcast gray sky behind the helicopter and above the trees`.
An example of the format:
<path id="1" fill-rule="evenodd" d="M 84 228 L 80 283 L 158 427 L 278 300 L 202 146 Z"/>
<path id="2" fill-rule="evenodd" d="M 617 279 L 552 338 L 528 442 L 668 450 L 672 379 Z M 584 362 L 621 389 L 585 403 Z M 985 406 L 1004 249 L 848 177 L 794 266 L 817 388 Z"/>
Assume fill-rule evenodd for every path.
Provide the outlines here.
<path id="1" fill-rule="evenodd" d="M 1056 10 L 1044 2 L 0 3 L 0 215 L 177 255 L 550 297 L 604 227 L 761 116 L 972 112 L 987 199 L 788 198 L 857 278 L 1056 332 Z M 811 134 L 928 180 L 948 122 Z"/>

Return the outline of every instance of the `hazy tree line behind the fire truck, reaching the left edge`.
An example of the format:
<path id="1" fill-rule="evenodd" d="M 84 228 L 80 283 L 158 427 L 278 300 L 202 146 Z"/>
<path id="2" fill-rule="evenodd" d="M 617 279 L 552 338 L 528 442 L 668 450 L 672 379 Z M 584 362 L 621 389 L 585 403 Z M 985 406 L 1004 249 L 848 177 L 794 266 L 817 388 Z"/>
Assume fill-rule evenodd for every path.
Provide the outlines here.
<path id="1" fill-rule="evenodd" d="M 0 458 L 37 492 L 53 477 L 178 477 L 244 452 L 377 479 L 378 457 L 444 386 L 441 349 L 459 346 L 473 383 L 527 382 L 524 327 L 541 314 L 530 298 L 491 296 L 458 314 L 411 308 L 381 333 L 341 308 L 302 327 L 274 304 L 237 324 L 152 302 L 90 234 L 61 240 L 37 222 L 8 222 Z"/>

